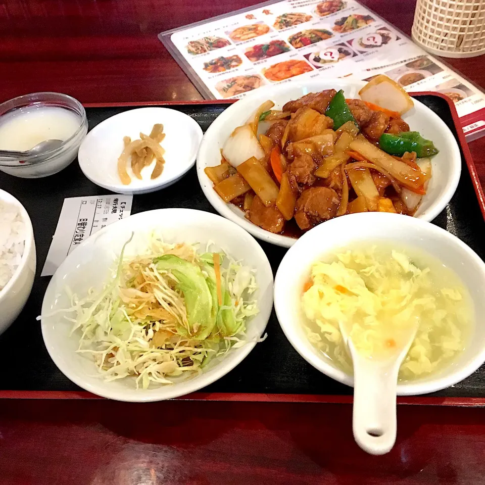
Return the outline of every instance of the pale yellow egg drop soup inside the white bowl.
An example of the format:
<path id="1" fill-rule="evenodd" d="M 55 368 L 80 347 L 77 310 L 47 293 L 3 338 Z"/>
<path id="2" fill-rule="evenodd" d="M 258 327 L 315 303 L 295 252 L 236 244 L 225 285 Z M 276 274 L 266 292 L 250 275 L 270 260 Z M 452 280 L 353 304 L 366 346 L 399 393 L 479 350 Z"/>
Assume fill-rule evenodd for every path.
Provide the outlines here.
<path id="1" fill-rule="evenodd" d="M 302 296 L 307 338 L 349 372 L 352 363 L 340 325 L 369 358 L 385 358 L 402 348 L 417 326 L 399 377 L 436 371 L 465 346 L 473 313 L 469 293 L 430 255 L 416 253 L 412 260 L 409 251 L 379 247 L 347 250 L 313 265 Z"/>

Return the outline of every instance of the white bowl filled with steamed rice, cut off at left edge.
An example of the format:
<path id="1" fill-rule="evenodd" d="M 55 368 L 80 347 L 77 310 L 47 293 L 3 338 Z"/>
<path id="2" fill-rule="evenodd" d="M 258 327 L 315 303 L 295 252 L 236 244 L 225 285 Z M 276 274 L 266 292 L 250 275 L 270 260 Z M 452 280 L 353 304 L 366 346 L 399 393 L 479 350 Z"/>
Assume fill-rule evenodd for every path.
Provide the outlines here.
<path id="1" fill-rule="evenodd" d="M 0 190 L 0 333 L 19 316 L 35 276 L 32 223 L 22 204 Z"/>

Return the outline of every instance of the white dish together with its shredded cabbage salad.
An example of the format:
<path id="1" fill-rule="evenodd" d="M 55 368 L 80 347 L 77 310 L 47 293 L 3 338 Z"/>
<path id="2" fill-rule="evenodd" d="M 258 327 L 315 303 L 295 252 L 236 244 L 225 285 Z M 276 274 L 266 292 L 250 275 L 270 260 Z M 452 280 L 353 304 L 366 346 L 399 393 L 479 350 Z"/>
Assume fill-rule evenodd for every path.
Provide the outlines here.
<path id="1" fill-rule="evenodd" d="M 207 212 L 148 211 L 66 258 L 45 292 L 42 336 L 86 391 L 161 401 L 216 381 L 263 341 L 272 295 L 268 258 L 244 229 Z"/>

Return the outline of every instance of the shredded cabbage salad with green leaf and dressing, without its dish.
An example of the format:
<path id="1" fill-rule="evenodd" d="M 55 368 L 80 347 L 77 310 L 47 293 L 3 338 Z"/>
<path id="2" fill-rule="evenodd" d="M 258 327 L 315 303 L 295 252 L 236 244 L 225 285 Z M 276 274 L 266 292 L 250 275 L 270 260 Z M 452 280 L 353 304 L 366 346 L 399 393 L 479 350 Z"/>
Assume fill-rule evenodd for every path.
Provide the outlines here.
<path id="1" fill-rule="evenodd" d="M 79 334 L 77 352 L 92 355 L 107 381 L 134 376 L 143 389 L 197 375 L 214 357 L 240 347 L 248 319 L 258 313 L 254 270 L 218 255 L 219 307 L 210 289 L 213 253 L 153 234 L 149 239 L 148 250 L 134 258 L 124 257 L 127 241 L 101 292 L 91 288 L 80 298 L 67 288 L 71 308 L 65 310 Z"/>

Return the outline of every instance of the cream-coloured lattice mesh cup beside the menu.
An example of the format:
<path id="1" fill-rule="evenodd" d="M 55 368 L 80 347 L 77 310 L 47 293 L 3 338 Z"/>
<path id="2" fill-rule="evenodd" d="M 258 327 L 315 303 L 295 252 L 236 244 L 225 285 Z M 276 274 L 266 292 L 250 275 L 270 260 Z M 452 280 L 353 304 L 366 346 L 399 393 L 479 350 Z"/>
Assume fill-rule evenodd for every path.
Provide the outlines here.
<path id="1" fill-rule="evenodd" d="M 485 0 L 417 0 L 412 37 L 437 56 L 485 54 Z"/>

